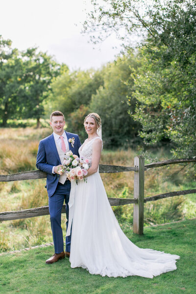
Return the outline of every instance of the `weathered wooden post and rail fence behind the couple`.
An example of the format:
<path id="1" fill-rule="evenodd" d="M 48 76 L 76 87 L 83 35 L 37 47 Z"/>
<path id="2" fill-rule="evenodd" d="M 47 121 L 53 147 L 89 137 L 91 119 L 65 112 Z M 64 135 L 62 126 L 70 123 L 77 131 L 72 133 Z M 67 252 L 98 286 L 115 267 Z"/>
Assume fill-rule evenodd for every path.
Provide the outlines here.
<path id="1" fill-rule="evenodd" d="M 174 159 L 166 160 L 162 162 L 156 162 L 151 164 L 144 164 L 145 158 L 141 156 L 136 156 L 134 158 L 134 167 L 123 167 L 123 166 L 113 166 L 113 165 L 99 165 L 100 173 L 110 173 L 110 172 L 134 172 L 134 192 L 132 199 L 125 198 L 108 198 L 111 206 L 125 205 L 133 203 L 133 232 L 139 235 L 143 234 L 144 229 L 144 203 L 147 201 L 155 201 L 158 199 L 163 199 L 172 196 L 180 196 L 196 193 L 196 189 L 176 191 L 164 193 L 151 197 L 144 197 L 144 187 L 145 187 L 145 171 L 151 168 L 162 167 L 171 164 L 180 163 L 190 163 L 196 162 L 195 158 L 192 159 Z M 30 179 L 41 179 L 46 178 L 46 173 L 41 171 L 28 171 L 19 172 L 8 175 L 0 175 L 0 182 L 10 182 L 10 181 L 21 181 Z M 65 205 L 63 205 L 62 213 L 65 213 Z M 1 212 L 0 221 L 11 221 L 26 218 L 33 218 L 39 216 L 49 215 L 49 207 L 43 206 L 32 209 L 25 209 L 20 211 L 10 211 Z"/>

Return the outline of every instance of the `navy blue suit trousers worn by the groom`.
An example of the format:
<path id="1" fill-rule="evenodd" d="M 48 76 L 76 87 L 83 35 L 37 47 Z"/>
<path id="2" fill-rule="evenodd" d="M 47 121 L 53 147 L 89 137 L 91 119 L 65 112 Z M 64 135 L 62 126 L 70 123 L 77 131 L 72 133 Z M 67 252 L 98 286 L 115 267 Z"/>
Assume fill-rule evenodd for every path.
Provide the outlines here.
<path id="1" fill-rule="evenodd" d="M 64 184 L 58 183 L 54 194 L 49 197 L 49 215 L 50 223 L 52 229 L 52 237 L 54 243 L 55 253 L 61 253 L 64 251 L 63 242 L 63 231 L 61 227 L 61 210 L 65 200 L 66 204 L 66 227 L 68 228 L 69 220 L 69 198 L 70 198 L 71 182 L 69 180 L 65 181 Z M 66 251 L 70 252 L 71 246 L 71 235 L 66 237 Z"/>

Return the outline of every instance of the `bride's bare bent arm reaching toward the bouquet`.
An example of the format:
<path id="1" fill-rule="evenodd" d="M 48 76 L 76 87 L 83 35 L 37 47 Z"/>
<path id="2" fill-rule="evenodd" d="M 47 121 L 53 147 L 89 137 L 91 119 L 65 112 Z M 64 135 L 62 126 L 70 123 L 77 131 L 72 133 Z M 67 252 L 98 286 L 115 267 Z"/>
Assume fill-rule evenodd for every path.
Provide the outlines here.
<path id="1" fill-rule="evenodd" d="M 98 164 L 99 164 L 99 160 L 100 160 L 100 157 L 101 157 L 101 149 L 102 149 L 102 141 L 100 139 L 99 140 L 96 139 L 93 142 L 92 165 L 88 169 L 87 176 L 89 176 L 89 175 L 91 175 L 91 174 L 98 171 Z"/>

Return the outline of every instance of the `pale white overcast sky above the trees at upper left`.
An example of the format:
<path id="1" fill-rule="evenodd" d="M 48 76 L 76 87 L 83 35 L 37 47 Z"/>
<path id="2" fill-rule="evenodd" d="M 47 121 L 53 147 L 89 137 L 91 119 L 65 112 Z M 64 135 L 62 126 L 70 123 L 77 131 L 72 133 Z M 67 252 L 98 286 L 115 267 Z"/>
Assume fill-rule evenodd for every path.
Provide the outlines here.
<path id="1" fill-rule="evenodd" d="M 84 9 L 91 10 L 91 0 L 1 0 L 0 34 L 20 50 L 38 46 L 71 70 L 97 69 L 113 61 L 120 46 L 112 36 L 93 49 L 80 33 Z"/>

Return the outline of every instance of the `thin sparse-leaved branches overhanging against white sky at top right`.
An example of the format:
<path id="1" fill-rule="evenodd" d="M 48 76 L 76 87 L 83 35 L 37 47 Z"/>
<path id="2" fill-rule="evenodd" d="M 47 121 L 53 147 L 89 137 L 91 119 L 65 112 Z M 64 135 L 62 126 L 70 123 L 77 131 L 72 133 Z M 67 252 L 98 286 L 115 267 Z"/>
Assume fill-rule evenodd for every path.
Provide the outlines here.
<path id="1" fill-rule="evenodd" d="M 196 6 L 193 0 L 102 0 L 102 3 L 91 0 L 91 3 L 93 10 L 87 13 L 83 32 L 90 33 L 93 43 L 101 42 L 116 33 L 122 40 L 122 45 L 128 49 L 133 47 L 134 43 L 145 43 L 147 36 L 157 43 L 160 36 L 161 42 L 164 42 L 171 33 L 170 39 L 174 41 L 172 26 L 175 27 L 175 22 L 171 23 L 171 18 L 175 21 L 177 18 L 180 22 L 183 11 L 186 14 L 192 7 L 192 14 Z M 194 25 L 191 15 L 187 21 Z M 181 28 L 186 34 L 186 22 L 181 21 Z M 178 29 L 176 32 L 179 33 Z M 134 42 L 136 36 L 138 41 Z"/>

